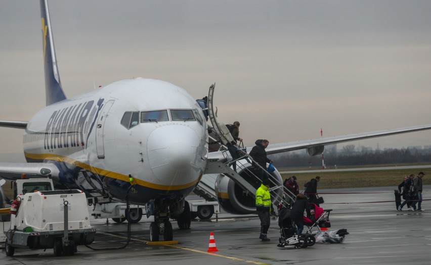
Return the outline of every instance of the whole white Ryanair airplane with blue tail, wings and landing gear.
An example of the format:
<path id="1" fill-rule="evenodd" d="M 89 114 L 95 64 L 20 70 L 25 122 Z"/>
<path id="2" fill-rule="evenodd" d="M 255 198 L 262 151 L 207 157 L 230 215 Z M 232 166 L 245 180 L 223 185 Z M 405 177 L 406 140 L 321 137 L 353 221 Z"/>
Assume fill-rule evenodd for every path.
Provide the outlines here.
<path id="1" fill-rule="evenodd" d="M 0 176 L 19 179 L 51 177 L 58 189 L 78 188 L 98 202 L 146 204 L 154 215 L 150 239 L 173 239 L 169 218 L 190 227 L 185 201 L 199 184 L 208 158 L 205 115 L 184 89 L 154 79 L 121 80 L 87 94 L 66 98 L 57 68 L 47 0 L 40 0 L 47 107 L 30 121 L 0 121 L 0 126 L 24 129 L 28 163 L 0 163 Z M 218 125 L 215 128 L 220 129 Z M 307 149 L 320 154 L 325 145 L 431 129 L 431 125 L 371 133 L 272 144 L 267 153 Z M 250 167 L 251 165 L 246 165 Z M 239 174 L 242 174 L 241 169 Z M 219 172 L 221 173 L 221 172 Z M 274 178 L 281 182 L 278 171 Z M 217 176 L 217 194 L 231 213 L 254 211 L 254 198 L 243 194 L 225 175 Z M 233 183 L 233 184 L 232 184 Z M 250 198 L 251 197 L 251 198 Z"/>

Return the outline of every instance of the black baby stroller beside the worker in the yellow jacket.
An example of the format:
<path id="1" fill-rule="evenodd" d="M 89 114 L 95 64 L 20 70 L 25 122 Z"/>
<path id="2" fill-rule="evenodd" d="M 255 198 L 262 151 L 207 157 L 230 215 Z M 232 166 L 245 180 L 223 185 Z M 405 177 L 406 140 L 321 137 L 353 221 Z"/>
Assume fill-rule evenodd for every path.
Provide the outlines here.
<path id="1" fill-rule="evenodd" d="M 290 208 L 280 204 L 278 206 L 278 226 L 280 227 L 280 238 L 278 247 L 306 248 L 311 247 L 316 242 L 316 238 L 307 233 L 296 235 L 296 226 L 290 219 Z"/>

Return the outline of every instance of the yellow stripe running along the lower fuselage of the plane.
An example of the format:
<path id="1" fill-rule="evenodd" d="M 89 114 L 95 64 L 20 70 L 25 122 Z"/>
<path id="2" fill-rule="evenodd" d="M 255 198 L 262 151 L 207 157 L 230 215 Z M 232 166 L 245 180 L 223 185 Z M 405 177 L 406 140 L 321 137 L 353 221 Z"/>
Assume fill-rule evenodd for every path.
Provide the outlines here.
<path id="1" fill-rule="evenodd" d="M 100 169 L 100 168 L 96 168 L 93 166 L 90 166 L 88 164 L 82 163 L 80 161 L 74 160 L 70 157 L 67 156 L 63 156 L 63 155 L 59 155 L 59 154 L 51 154 L 51 153 L 42 153 L 42 154 L 36 154 L 36 153 L 24 153 L 25 157 L 30 158 L 30 159 L 34 159 L 34 160 L 51 160 L 51 161 L 56 161 L 56 162 L 64 162 L 70 165 L 74 165 L 76 167 L 88 170 L 90 172 L 93 172 L 95 174 L 99 174 L 108 178 L 113 178 L 113 179 L 118 179 L 118 180 L 122 180 L 122 181 L 126 181 L 129 182 L 129 177 L 120 173 L 116 173 L 116 172 L 112 172 L 112 171 L 108 171 L 105 169 Z M 202 175 L 195 181 L 187 183 L 187 184 L 183 184 L 183 185 L 175 185 L 175 186 L 171 186 L 171 185 L 160 185 L 160 184 L 154 184 L 154 183 L 150 183 L 144 180 L 140 180 L 140 179 L 136 179 L 134 178 L 134 180 L 136 181 L 136 183 L 140 186 L 144 186 L 144 187 L 148 187 L 148 188 L 152 188 L 152 189 L 157 189 L 157 190 L 182 190 L 182 189 L 187 189 L 190 188 L 194 185 L 196 185 L 197 182 L 199 182 L 199 180 L 202 178 Z"/>

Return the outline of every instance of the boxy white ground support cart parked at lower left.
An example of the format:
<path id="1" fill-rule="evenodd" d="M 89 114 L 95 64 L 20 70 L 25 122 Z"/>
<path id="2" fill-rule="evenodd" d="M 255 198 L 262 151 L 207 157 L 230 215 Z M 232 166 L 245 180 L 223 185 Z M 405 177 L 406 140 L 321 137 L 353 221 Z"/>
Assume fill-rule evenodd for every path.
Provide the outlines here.
<path id="1" fill-rule="evenodd" d="M 73 255 L 77 245 L 93 242 L 96 229 L 90 225 L 85 194 L 74 189 L 18 195 L 4 233 L 8 256 L 14 255 L 15 248 L 53 248 L 55 255 Z"/>

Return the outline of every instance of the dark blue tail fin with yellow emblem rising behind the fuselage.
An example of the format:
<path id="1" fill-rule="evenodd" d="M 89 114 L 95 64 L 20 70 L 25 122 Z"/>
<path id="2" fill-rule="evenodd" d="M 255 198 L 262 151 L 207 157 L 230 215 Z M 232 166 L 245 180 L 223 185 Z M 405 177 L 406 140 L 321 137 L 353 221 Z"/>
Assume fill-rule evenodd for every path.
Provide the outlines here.
<path id="1" fill-rule="evenodd" d="M 50 13 L 47 0 L 40 0 L 40 17 L 44 45 L 45 92 L 47 105 L 66 99 L 61 87 L 60 75 L 55 56 L 54 39 L 51 30 Z"/>

